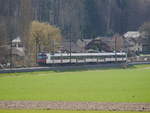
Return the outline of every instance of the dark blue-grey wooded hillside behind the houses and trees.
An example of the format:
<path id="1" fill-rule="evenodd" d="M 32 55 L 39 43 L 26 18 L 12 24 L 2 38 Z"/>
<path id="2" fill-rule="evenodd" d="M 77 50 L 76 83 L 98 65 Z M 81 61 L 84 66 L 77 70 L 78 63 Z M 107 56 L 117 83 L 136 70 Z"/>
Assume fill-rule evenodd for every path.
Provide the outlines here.
<path id="1" fill-rule="evenodd" d="M 11 26 L 12 37 L 20 32 L 20 1 L 0 0 L 0 20 Z M 150 20 L 149 0 L 32 0 L 31 7 L 33 19 L 59 26 L 74 39 L 137 30 Z"/>

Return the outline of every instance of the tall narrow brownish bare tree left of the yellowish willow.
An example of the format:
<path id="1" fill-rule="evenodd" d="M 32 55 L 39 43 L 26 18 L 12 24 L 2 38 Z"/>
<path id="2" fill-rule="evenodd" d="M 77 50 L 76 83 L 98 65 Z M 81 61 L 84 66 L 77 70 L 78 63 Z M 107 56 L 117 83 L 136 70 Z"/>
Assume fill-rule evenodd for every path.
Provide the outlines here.
<path id="1" fill-rule="evenodd" d="M 20 35 L 25 48 L 25 65 L 30 65 L 28 41 L 30 38 L 30 24 L 32 20 L 31 0 L 20 0 Z"/>

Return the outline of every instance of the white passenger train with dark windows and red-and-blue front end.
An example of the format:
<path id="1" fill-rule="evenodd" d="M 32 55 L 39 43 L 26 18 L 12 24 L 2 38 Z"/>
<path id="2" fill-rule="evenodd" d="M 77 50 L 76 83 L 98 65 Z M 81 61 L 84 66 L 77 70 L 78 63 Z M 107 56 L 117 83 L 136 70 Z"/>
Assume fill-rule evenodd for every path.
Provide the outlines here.
<path id="1" fill-rule="evenodd" d="M 37 63 L 46 64 L 82 64 L 126 62 L 127 54 L 121 53 L 39 53 Z"/>

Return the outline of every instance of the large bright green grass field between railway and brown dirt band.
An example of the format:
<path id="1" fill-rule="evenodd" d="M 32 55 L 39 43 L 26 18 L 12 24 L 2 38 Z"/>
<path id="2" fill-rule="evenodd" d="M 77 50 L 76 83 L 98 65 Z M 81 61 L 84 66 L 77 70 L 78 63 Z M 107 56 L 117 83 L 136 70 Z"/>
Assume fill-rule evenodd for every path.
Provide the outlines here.
<path id="1" fill-rule="evenodd" d="M 150 102 L 149 67 L 0 74 L 0 100 Z"/>

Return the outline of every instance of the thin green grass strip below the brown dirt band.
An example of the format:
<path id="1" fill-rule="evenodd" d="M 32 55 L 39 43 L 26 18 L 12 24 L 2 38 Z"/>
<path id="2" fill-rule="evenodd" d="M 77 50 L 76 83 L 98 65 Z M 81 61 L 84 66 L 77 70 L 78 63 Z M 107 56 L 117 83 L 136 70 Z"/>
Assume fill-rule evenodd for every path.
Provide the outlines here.
<path id="1" fill-rule="evenodd" d="M 60 110 L 0 110 L 0 113 L 149 113 L 149 112 L 104 112 L 104 111 L 60 111 Z"/>

